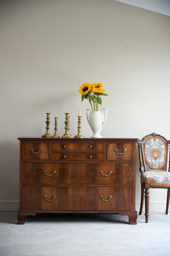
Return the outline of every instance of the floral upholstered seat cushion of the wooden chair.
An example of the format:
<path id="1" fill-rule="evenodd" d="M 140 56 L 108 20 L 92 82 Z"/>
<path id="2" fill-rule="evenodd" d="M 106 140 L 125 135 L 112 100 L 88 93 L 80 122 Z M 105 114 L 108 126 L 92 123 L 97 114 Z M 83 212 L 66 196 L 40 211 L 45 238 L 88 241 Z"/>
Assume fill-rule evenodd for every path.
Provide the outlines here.
<path id="1" fill-rule="evenodd" d="M 170 186 L 169 171 L 145 171 L 141 174 L 141 183 L 150 183 L 154 186 L 163 184 Z"/>

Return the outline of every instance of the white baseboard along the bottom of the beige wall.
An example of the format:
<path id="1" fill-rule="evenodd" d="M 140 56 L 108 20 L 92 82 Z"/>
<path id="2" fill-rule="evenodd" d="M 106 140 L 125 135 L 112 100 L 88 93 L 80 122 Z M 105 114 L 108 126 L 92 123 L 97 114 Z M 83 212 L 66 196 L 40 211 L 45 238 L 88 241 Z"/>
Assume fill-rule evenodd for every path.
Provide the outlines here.
<path id="1" fill-rule="evenodd" d="M 17 212 L 19 209 L 19 201 L 0 201 L 0 211 L 3 212 Z M 139 213 L 140 202 L 136 202 L 136 211 Z M 145 211 L 145 203 L 143 204 L 143 212 Z M 170 211 L 170 207 L 169 207 Z M 150 213 L 165 213 L 166 203 L 162 202 L 150 202 L 149 204 Z"/>

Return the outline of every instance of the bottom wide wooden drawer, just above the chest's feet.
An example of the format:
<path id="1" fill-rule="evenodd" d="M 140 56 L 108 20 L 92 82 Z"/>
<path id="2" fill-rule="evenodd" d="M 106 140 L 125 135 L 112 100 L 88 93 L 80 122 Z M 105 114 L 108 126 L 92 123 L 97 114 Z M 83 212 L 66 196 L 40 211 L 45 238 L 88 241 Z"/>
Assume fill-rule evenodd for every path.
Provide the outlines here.
<path id="1" fill-rule="evenodd" d="M 132 210 L 129 199 L 132 187 L 22 187 L 22 210 Z"/>

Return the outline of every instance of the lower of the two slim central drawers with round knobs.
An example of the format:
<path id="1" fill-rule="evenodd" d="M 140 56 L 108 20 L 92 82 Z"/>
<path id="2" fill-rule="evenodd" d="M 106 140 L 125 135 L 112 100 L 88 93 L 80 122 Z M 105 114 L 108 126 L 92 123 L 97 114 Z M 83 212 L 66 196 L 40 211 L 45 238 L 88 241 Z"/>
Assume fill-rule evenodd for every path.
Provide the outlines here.
<path id="1" fill-rule="evenodd" d="M 53 152 L 51 153 L 51 160 L 63 160 L 63 161 L 80 161 L 80 160 L 104 160 L 104 153 L 96 153 L 96 152 L 79 152 L 79 153 L 69 153 L 69 152 L 63 152 L 63 153 L 57 153 Z"/>

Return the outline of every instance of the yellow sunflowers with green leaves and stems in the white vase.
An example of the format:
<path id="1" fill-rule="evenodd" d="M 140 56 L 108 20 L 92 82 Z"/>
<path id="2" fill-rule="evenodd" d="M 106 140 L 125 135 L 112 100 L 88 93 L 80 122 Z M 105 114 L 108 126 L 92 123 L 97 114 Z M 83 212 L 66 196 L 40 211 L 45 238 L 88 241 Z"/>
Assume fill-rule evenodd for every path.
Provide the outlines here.
<path id="1" fill-rule="evenodd" d="M 98 111 L 99 105 L 101 105 L 102 100 L 100 96 L 107 96 L 105 94 L 105 89 L 102 88 L 102 83 L 93 83 L 89 84 L 87 82 L 83 83 L 82 86 L 79 87 L 78 91 L 81 93 L 81 101 L 84 99 L 89 100 L 89 103 L 92 107 L 92 111 Z"/>

